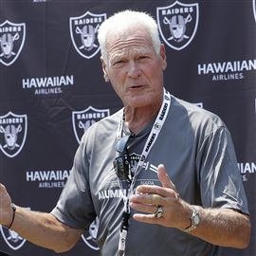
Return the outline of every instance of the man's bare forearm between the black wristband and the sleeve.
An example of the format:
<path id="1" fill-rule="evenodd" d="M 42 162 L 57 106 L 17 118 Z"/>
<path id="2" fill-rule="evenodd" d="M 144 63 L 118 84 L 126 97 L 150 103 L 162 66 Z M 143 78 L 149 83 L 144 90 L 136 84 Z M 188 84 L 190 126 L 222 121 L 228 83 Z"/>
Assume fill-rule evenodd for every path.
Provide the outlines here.
<path id="1" fill-rule="evenodd" d="M 82 234 L 59 222 L 52 214 L 17 207 L 11 229 L 27 241 L 62 252 L 73 247 Z"/>

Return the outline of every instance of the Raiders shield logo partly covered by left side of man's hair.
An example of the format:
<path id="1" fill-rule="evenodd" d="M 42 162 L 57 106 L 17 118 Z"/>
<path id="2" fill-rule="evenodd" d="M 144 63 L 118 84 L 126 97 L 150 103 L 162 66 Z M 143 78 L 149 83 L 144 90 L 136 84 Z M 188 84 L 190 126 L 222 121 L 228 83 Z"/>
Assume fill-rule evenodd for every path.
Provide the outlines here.
<path id="1" fill-rule="evenodd" d="M 91 59 L 100 51 L 97 32 L 105 19 L 106 13 L 94 14 L 90 11 L 86 11 L 82 16 L 69 18 L 73 45 L 83 58 Z"/>

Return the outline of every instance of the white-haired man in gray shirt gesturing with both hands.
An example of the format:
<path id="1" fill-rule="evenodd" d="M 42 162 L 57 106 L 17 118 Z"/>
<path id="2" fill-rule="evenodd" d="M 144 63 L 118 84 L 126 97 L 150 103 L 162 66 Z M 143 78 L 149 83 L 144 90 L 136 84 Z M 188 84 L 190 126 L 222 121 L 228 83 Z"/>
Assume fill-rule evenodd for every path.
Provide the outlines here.
<path id="1" fill-rule="evenodd" d="M 125 10 L 99 29 L 101 63 L 123 103 L 82 137 L 50 213 L 11 205 L 0 223 L 64 251 L 99 218 L 101 255 L 221 255 L 247 247 L 247 198 L 225 124 L 164 89 L 167 67 L 155 20 Z M 12 206 L 12 207 L 11 207 Z"/>

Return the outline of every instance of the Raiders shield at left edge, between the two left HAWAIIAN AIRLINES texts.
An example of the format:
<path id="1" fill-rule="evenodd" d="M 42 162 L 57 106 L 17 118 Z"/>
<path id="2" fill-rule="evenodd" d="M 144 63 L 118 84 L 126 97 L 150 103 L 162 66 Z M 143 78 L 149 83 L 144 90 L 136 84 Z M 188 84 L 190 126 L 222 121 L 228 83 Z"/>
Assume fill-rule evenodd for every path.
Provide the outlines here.
<path id="1" fill-rule="evenodd" d="M 9 112 L 0 116 L 0 149 L 9 156 L 18 155 L 27 137 L 27 115 Z"/>

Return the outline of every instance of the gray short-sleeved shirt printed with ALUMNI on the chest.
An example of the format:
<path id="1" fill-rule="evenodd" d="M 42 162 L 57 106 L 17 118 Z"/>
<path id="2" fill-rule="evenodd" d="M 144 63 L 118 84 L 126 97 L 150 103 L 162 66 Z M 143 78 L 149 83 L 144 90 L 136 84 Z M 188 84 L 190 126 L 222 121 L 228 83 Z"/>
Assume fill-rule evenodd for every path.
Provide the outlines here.
<path id="1" fill-rule="evenodd" d="M 101 255 L 118 255 L 123 201 L 113 168 L 122 110 L 92 125 L 82 137 L 72 172 L 52 214 L 76 229 L 88 229 L 99 217 Z M 133 168 L 154 120 L 129 139 Z M 248 213 L 247 198 L 225 124 L 216 115 L 172 96 L 171 108 L 144 168 L 140 184 L 160 185 L 156 167 L 163 163 L 181 198 L 204 208 L 229 208 Z M 123 188 L 128 184 L 122 181 Z M 134 210 L 132 210 L 132 214 Z M 139 223 L 130 218 L 125 255 L 210 256 L 221 248 L 178 229 Z"/>

